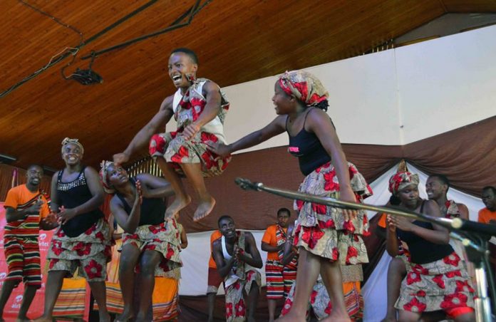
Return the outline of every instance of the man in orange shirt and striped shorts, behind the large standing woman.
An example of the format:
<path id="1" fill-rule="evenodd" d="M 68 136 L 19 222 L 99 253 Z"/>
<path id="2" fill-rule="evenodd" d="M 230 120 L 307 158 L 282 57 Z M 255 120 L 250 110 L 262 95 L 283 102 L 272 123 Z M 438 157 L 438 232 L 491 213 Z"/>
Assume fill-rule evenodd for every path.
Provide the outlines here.
<path id="1" fill-rule="evenodd" d="M 288 265 L 281 264 L 284 255 L 289 217 L 287 208 L 277 211 L 277 224 L 267 227 L 262 238 L 262 251 L 267 251 L 265 262 L 265 277 L 267 279 L 267 303 L 269 306 L 269 321 L 274 321 L 277 300 L 287 296 L 296 280 L 296 259 Z"/>

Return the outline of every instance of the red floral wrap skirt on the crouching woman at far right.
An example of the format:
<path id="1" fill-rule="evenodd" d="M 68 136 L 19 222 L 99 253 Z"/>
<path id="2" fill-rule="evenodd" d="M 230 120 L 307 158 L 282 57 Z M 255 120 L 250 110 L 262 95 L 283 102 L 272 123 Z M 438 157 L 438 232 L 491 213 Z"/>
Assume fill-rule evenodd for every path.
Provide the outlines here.
<path id="1" fill-rule="evenodd" d="M 406 262 L 407 274 L 395 307 L 415 313 L 474 307 L 474 289 L 455 251 L 427 264 Z"/>

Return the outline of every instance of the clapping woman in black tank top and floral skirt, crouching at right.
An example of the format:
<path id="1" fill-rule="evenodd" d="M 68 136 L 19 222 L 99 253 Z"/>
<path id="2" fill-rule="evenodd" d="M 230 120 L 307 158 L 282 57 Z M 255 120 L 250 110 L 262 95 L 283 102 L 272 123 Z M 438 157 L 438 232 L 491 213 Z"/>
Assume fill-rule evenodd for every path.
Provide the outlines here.
<path id="1" fill-rule="evenodd" d="M 418 196 L 418 175 L 398 172 L 389 180 L 400 208 L 443 217 L 438 204 Z M 475 321 L 474 289 L 467 269 L 450 246 L 449 232 L 428 222 L 388 215 L 387 250 L 398 255 L 398 237 L 408 245 L 407 274 L 395 307 L 398 321 L 420 321 L 424 313 L 445 311 L 455 321 Z M 389 287 L 389 286 L 388 286 Z M 435 313 L 434 313 L 435 314 Z"/>

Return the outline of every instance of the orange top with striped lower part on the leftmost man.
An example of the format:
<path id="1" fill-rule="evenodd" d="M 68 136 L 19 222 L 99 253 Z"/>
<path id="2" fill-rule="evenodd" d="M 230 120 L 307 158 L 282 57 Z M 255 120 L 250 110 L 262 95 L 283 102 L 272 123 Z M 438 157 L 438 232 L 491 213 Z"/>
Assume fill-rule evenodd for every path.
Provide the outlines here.
<path id="1" fill-rule="evenodd" d="M 35 198 L 39 192 L 29 191 L 26 185 L 19 185 L 7 192 L 4 208 L 11 207 L 16 210 L 22 210 L 31 207 L 38 198 Z M 22 237 L 38 237 L 40 229 L 40 220 L 50 214 L 48 203 L 43 194 L 40 194 L 43 205 L 41 206 L 39 214 L 29 214 L 24 219 L 9 222 L 5 225 L 5 234 L 12 234 Z"/>

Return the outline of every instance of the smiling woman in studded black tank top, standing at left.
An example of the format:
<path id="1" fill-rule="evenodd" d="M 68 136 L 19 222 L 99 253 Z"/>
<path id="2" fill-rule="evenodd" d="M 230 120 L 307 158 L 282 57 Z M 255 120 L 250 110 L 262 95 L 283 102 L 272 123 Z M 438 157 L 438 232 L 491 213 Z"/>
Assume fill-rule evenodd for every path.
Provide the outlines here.
<path id="1" fill-rule="evenodd" d="M 66 167 L 56 172 L 51 182 L 50 207 L 61 226 L 53 234 L 47 255 L 50 263 L 46 289 L 56 291 L 45 296 L 44 307 L 48 309 L 41 317 L 43 321 L 52 320 L 63 278 L 72 276 L 76 269 L 89 282 L 100 321 L 110 321 L 105 296 L 110 232 L 99 209 L 105 194 L 98 172 L 81 164 L 83 152 L 77 139 L 66 137 L 61 148 Z"/>

